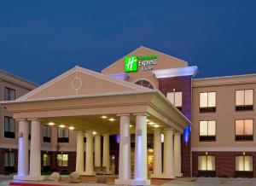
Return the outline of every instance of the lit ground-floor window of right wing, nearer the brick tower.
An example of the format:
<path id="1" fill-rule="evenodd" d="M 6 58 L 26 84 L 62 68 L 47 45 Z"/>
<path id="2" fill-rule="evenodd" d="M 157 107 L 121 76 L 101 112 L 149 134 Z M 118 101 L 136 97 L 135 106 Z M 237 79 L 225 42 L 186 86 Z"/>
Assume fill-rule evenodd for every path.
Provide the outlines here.
<path id="1" fill-rule="evenodd" d="M 215 171 L 215 156 L 214 155 L 198 156 L 198 171 Z"/>

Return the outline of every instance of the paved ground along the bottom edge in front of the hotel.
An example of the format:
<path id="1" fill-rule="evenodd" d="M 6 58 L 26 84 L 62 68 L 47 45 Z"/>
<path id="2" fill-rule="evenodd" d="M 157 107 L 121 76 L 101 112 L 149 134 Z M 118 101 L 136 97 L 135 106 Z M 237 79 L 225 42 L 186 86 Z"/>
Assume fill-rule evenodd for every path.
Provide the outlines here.
<path id="1" fill-rule="evenodd" d="M 11 176 L 2 176 L 0 175 L 0 186 L 9 185 L 9 181 L 11 181 Z M 48 182 L 49 183 L 49 182 Z M 65 184 L 66 185 L 66 184 Z M 71 185 L 71 184 L 67 184 Z M 96 184 L 96 183 L 83 183 L 83 184 L 72 184 L 76 186 L 87 186 L 87 185 L 96 185 L 103 186 L 104 184 Z M 107 184 L 105 184 L 106 186 Z M 108 184 L 108 186 L 111 184 Z M 207 178 L 207 177 L 199 177 L 199 178 L 177 178 L 175 180 L 163 183 L 162 186 L 256 186 L 256 178 Z"/>

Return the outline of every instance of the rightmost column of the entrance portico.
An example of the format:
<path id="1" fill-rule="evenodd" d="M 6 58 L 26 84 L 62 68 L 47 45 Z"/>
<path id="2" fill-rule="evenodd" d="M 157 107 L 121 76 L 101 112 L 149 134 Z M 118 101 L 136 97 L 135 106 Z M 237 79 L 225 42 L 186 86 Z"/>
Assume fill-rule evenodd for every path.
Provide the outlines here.
<path id="1" fill-rule="evenodd" d="M 181 134 L 176 132 L 174 133 L 174 176 L 183 177 L 181 172 Z"/>

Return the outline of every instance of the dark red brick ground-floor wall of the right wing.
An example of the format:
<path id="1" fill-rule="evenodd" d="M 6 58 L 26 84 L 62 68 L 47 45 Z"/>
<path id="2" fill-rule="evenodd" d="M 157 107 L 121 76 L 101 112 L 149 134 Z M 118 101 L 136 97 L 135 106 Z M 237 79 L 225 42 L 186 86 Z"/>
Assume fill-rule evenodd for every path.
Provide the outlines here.
<path id="1" fill-rule="evenodd" d="M 198 176 L 198 156 L 205 155 L 205 152 L 192 153 L 192 175 Z M 236 155 L 243 155 L 242 152 L 208 152 L 208 155 L 215 156 L 216 177 L 235 177 Z M 253 156 L 253 177 L 256 177 L 256 152 L 247 152 L 246 155 Z"/>

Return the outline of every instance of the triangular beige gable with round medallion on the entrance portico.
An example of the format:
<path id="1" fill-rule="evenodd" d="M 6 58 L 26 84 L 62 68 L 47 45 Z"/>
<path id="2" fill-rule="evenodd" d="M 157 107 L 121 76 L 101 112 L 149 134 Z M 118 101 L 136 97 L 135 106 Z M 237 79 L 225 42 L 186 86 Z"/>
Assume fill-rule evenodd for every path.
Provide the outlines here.
<path id="1" fill-rule="evenodd" d="M 16 101 L 53 99 L 60 97 L 90 96 L 107 93 L 148 91 L 148 88 L 123 80 L 108 77 L 102 73 L 73 67 L 66 73 L 53 78 Z"/>

